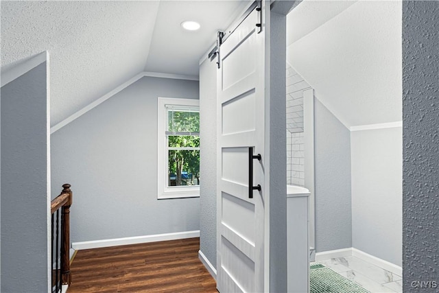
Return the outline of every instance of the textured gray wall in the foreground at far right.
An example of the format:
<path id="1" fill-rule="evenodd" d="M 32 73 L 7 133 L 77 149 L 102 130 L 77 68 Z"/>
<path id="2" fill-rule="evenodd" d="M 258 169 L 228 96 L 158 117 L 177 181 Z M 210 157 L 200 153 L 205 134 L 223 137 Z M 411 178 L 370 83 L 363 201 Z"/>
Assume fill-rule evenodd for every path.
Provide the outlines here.
<path id="1" fill-rule="evenodd" d="M 438 16 L 438 1 L 403 1 L 404 292 L 439 288 Z"/>

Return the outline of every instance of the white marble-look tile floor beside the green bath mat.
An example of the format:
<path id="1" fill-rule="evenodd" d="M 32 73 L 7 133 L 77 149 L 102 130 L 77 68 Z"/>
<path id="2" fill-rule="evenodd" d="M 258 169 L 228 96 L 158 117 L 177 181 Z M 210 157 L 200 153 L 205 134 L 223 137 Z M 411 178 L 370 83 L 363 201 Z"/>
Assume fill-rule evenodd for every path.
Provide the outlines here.
<path id="1" fill-rule="evenodd" d="M 322 263 L 371 293 L 403 292 L 401 276 L 358 257 L 338 257 L 315 263 Z"/>

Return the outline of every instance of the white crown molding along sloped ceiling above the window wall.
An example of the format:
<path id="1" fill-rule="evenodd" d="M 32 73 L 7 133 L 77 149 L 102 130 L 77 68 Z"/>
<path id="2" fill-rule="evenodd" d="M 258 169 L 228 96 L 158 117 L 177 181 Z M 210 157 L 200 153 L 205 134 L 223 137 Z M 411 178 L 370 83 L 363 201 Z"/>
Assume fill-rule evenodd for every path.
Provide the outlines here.
<path id="1" fill-rule="evenodd" d="M 85 106 L 81 110 L 78 110 L 78 112 L 73 113 L 72 115 L 70 115 L 66 119 L 62 120 L 60 123 L 56 124 L 55 126 L 52 126 L 50 128 L 50 134 L 53 134 L 57 130 L 60 130 L 61 128 L 63 128 L 67 124 L 71 123 L 71 121 L 74 121 L 75 119 L 81 117 L 82 115 L 87 113 L 89 110 L 99 106 L 99 104 L 102 104 L 103 102 L 105 102 L 107 99 L 109 99 L 113 95 L 116 95 L 117 93 L 119 93 L 123 89 L 126 89 L 128 86 L 130 86 L 131 84 L 134 84 L 134 82 L 137 82 L 137 80 L 140 80 L 143 77 L 171 78 L 174 80 L 195 80 L 195 81 L 199 80 L 198 76 L 194 76 L 194 75 L 180 75 L 180 74 L 169 74 L 169 73 L 143 71 L 143 72 L 135 75 L 133 78 L 130 78 L 130 80 L 123 82 L 123 84 L 117 86 L 117 88 L 113 89 L 112 91 L 109 91 L 108 93 L 106 93 L 102 97 L 99 97 L 99 99 L 96 99 L 91 104 L 88 104 L 87 106 Z"/>

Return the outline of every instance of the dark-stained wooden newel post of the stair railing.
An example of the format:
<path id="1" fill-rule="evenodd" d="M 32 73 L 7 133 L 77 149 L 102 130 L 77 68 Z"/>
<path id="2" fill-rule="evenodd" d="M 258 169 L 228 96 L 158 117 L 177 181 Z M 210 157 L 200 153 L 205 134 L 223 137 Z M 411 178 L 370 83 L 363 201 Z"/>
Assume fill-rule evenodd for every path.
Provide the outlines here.
<path id="1" fill-rule="evenodd" d="M 62 244 L 61 244 L 61 280 L 62 284 L 71 284 L 71 273 L 70 273 L 70 206 L 72 203 L 73 192 L 70 190 L 71 185 L 62 185 L 61 194 L 69 194 L 69 199 L 66 204 L 62 206 L 61 210 L 61 233 L 62 233 Z"/>

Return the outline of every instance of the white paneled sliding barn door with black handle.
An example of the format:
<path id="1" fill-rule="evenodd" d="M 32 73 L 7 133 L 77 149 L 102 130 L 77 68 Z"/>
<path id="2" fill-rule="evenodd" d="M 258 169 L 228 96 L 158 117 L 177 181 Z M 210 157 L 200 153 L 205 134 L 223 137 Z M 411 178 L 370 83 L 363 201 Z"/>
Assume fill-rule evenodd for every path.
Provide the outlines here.
<path id="1" fill-rule="evenodd" d="M 254 8 L 219 50 L 217 289 L 223 293 L 264 291 L 266 32 L 257 26 L 261 13 Z"/>

